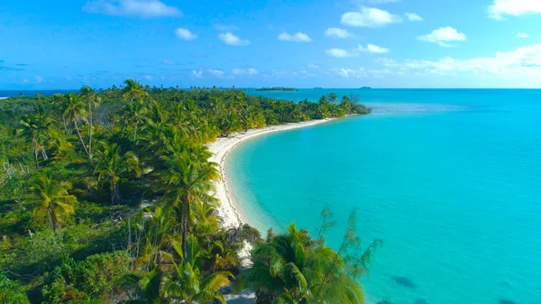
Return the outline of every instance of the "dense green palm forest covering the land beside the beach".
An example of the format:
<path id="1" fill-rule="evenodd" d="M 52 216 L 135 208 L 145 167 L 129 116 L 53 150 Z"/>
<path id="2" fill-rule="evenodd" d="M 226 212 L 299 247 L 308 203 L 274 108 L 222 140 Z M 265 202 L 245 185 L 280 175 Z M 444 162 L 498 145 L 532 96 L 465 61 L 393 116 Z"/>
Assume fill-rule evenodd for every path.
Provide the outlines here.
<path id="1" fill-rule="evenodd" d="M 294 103 L 242 90 L 81 88 L 0 100 L 1 303 L 206 303 L 252 289 L 258 303 L 362 303 L 354 213 L 264 238 L 225 230 L 206 143 L 270 124 L 370 109 L 335 94 Z M 311 236 L 310 236 L 311 235 Z M 254 245 L 252 266 L 237 251 Z"/>

